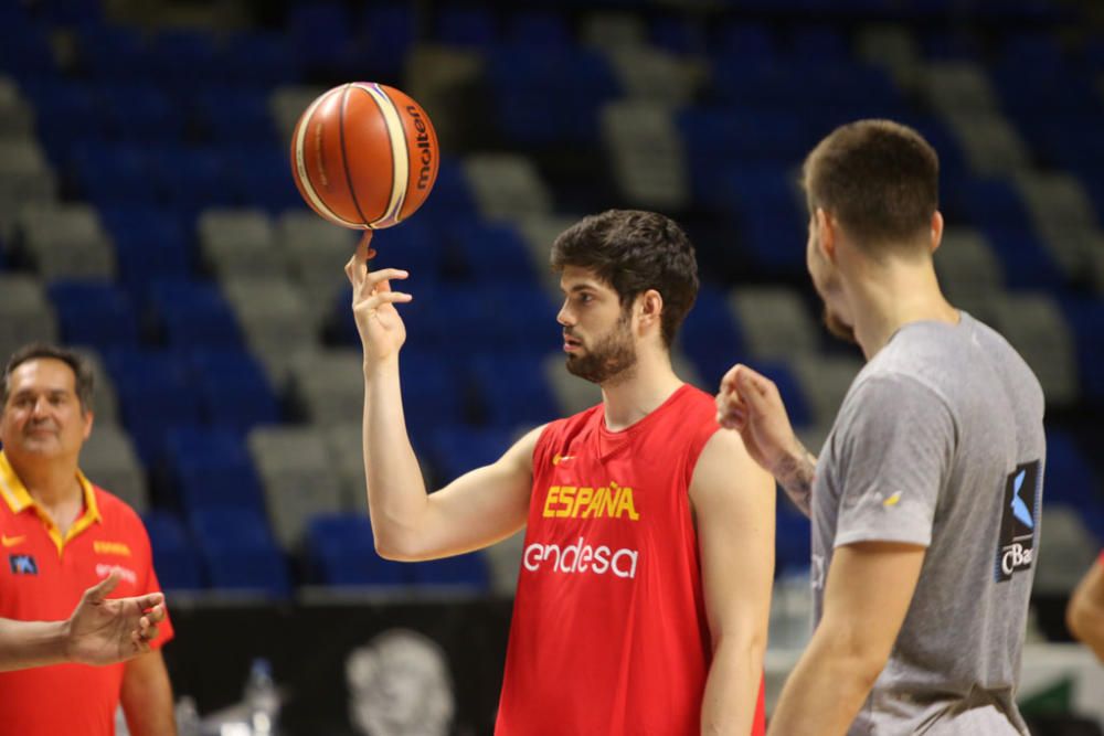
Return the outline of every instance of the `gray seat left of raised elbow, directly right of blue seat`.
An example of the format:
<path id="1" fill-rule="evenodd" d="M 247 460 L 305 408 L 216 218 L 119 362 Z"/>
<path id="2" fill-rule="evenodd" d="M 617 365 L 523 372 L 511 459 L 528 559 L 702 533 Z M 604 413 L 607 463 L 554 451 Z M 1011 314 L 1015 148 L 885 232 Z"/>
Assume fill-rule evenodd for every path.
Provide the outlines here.
<path id="1" fill-rule="evenodd" d="M 312 516 L 342 510 L 341 484 L 322 433 L 261 427 L 250 431 L 247 444 L 276 537 L 284 548 L 295 550 Z"/>

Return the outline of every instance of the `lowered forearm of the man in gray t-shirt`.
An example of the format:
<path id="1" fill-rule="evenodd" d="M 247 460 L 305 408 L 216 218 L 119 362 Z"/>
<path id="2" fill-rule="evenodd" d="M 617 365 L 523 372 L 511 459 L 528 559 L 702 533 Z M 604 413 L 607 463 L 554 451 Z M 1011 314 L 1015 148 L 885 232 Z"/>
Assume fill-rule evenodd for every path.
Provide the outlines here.
<path id="1" fill-rule="evenodd" d="M 880 669 L 826 639 L 814 634 L 786 681 L 769 736 L 842 736 L 870 694 Z"/>

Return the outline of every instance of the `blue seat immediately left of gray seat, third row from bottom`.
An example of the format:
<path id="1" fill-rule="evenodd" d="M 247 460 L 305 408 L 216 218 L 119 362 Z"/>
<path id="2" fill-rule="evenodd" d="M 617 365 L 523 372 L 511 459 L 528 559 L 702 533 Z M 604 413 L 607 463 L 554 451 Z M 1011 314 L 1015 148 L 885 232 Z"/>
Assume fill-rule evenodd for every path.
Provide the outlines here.
<path id="1" fill-rule="evenodd" d="M 245 433 L 279 422 L 279 405 L 257 361 L 243 350 L 194 350 L 193 391 L 209 424 Z"/>

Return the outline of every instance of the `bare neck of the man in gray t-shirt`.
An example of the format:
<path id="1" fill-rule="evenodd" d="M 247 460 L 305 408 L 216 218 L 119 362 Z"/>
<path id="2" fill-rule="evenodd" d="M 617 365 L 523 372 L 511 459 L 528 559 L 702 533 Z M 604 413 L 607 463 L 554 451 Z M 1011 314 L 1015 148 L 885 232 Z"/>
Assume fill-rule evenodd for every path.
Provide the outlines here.
<path id="1" fill-rule="evenodd" d="M 931 259 L 870 265 L 852 284 L 848 297 L 854 337 L 868 361 L 905 324 L 957 324 L 960 319 L 940 290 Z"/>

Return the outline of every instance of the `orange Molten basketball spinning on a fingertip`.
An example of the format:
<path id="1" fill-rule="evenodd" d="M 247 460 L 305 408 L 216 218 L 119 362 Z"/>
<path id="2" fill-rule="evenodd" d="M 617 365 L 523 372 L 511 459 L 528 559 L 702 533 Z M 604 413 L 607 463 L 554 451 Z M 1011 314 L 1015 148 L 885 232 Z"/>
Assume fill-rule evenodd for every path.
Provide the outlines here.
<path id="1" fill-rule="evenodd" d="M 355 230 L 397 225 L 422 206 L 440 153 L 429 116 L 382 84 L 350 82 L 326 92 L 291 135 L 291 174 L 307 204 Z"/>

